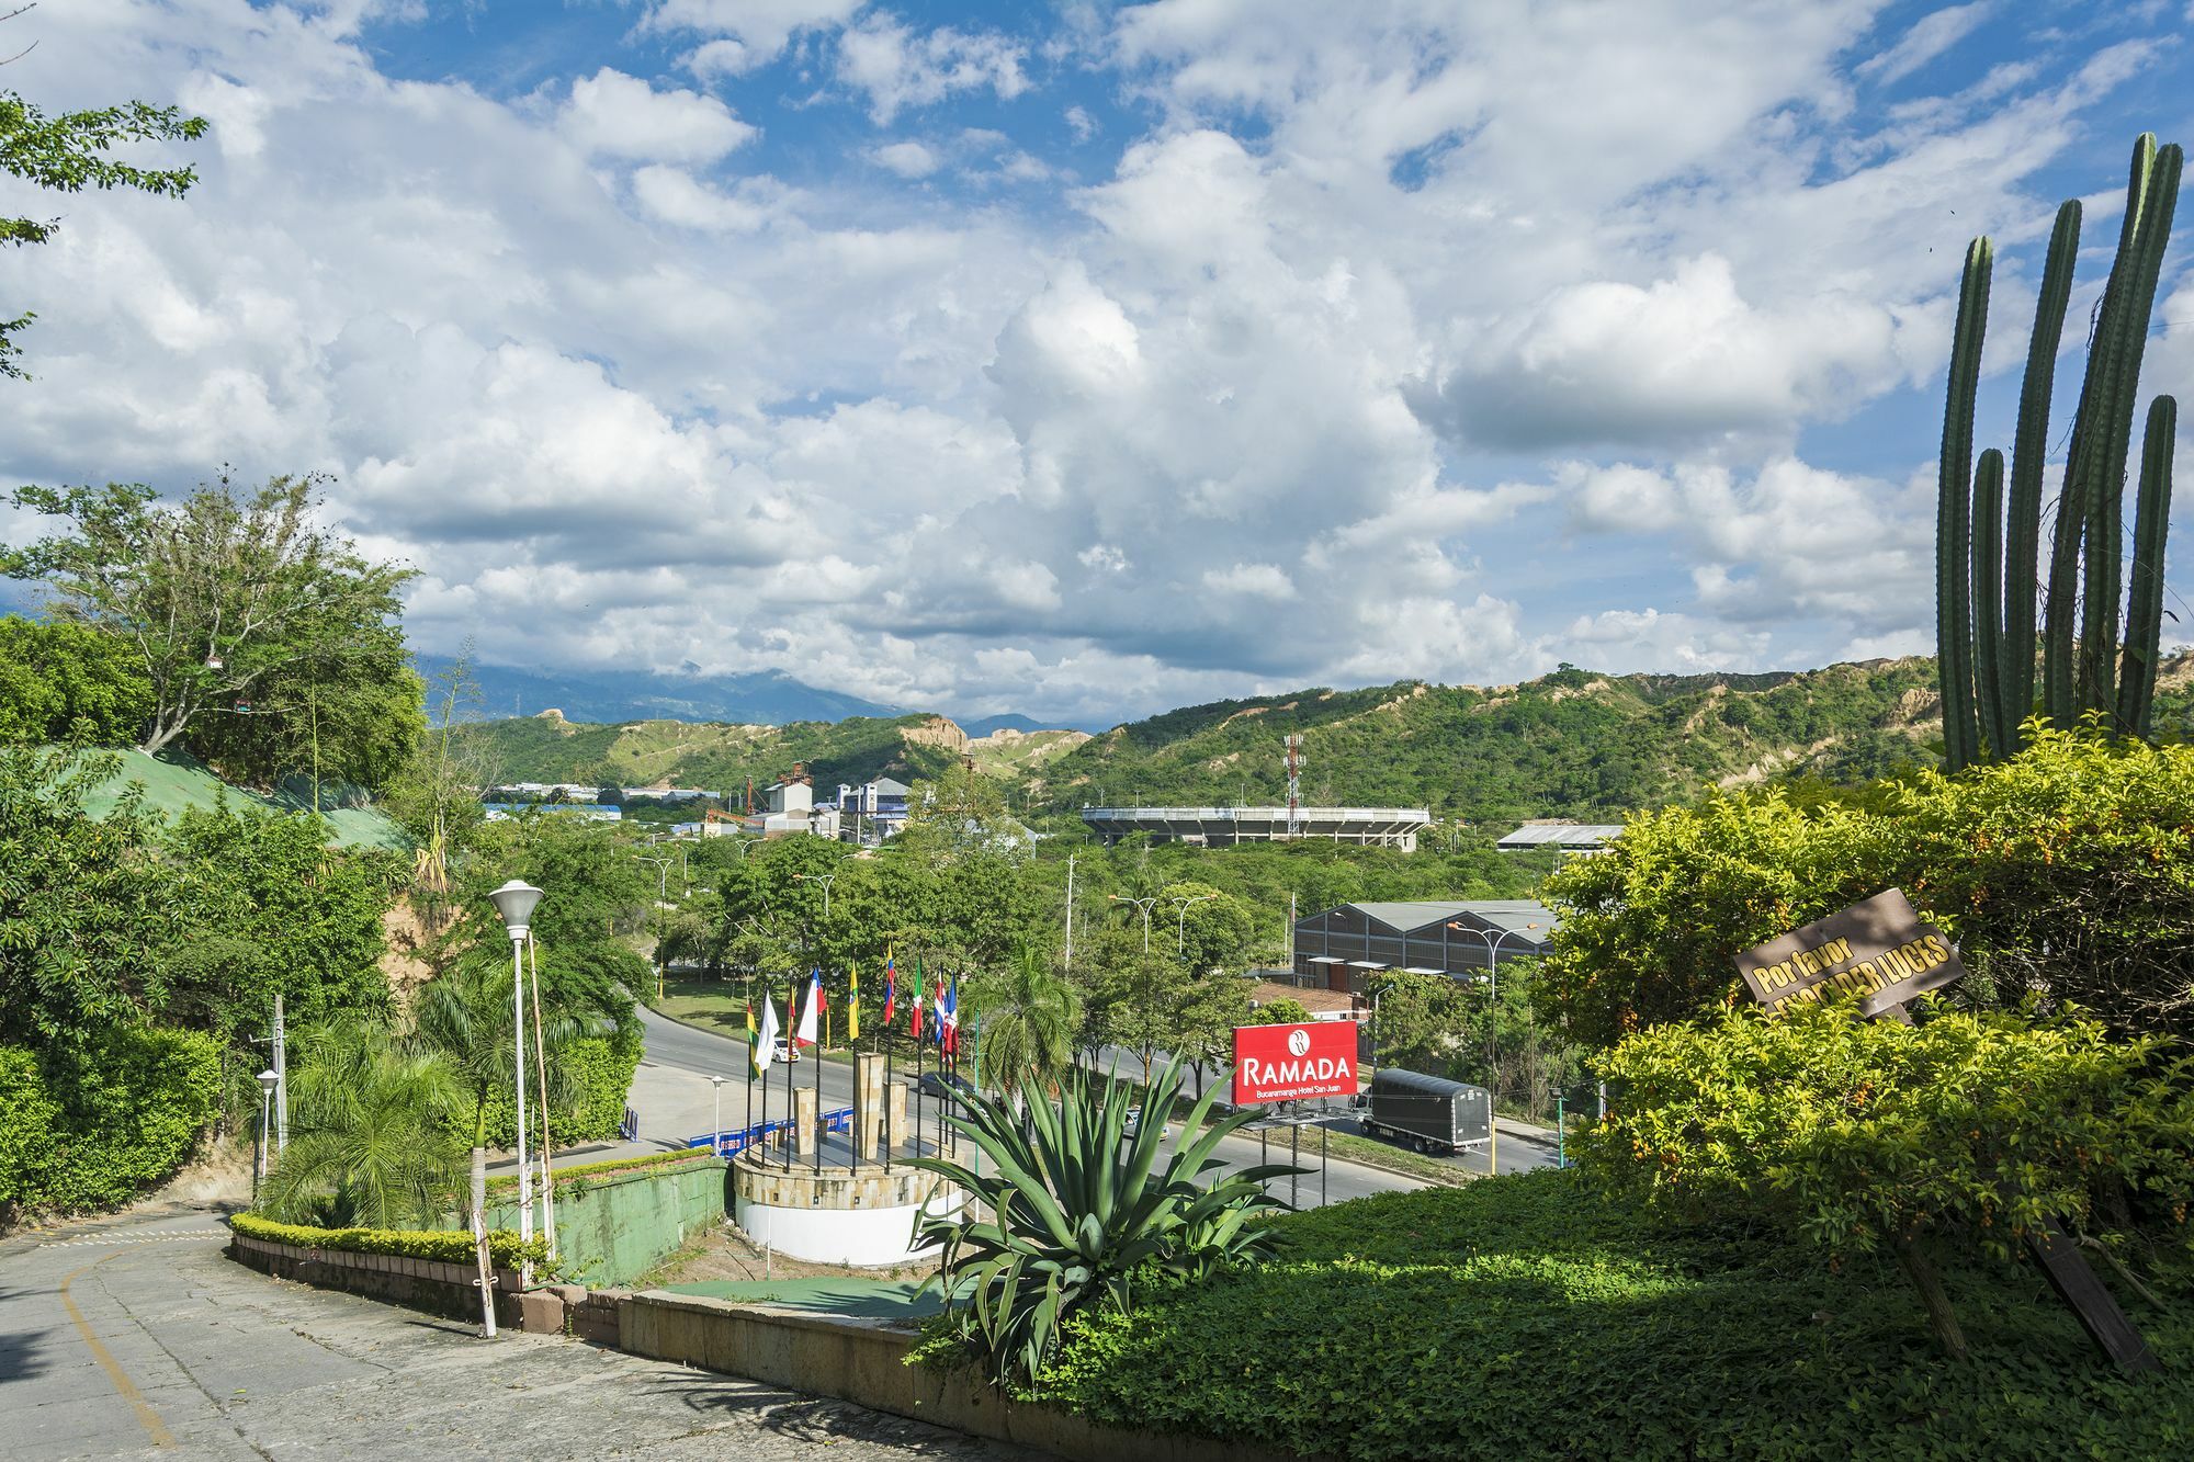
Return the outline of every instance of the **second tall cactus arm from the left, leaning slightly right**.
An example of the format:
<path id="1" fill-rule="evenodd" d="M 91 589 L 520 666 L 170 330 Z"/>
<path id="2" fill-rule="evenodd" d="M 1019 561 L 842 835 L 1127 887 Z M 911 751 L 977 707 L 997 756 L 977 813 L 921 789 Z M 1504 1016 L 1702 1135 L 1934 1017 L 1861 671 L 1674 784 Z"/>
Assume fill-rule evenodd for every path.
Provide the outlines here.
<path id="1" fill-rule="evenodd" d="M 2065 338 L 2065 307 L 2080 257 L 2080 200 L 2058 209 L 2043 266 L 2043 296 L 2034 310 L 2027 342 L 2027 375 L 2018 391 L 2018 430 L 2012 437 L 2012 490 L 2003 527 L 2003 639 L 1997 670 L 1997 720 L 2003 740 L 1997 755 L 2023 744 L 2021 722 L 2034 713 L 2034 641 L 2040 586 L 2043 470 L 2049 459 L 2049 397 L 2056 389 L 2056 356 Z"/>

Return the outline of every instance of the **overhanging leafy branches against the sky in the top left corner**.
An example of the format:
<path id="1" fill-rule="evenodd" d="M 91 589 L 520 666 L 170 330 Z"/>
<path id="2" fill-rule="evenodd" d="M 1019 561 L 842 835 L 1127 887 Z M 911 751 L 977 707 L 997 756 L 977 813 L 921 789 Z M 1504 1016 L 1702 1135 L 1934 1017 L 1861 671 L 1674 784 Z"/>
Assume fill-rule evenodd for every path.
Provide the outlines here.
<path id="1" fill-rule="evenodd" d="M 22 9 L 0 15 L 0 20 L 13 20 L 20 13 Z M 204 134 L 204 116 L 184 116 L 176 108 L 129 101 L 116 108 L 48 116 L 15 92 L 0 92 L 0 171 L 48 193 L 136 189 L 182 198 L 197 182 L 193 167 L 145 169 L 118 162 L 108 154 L 127 143 L 191 143 Z M 44 244 L 59 228 L 59 220 L 0 217 L 0 241 L 18 248 Z M 0 320 L 0 375 L 20 378 L 24 373 L 22 347 L 15 345 L 15 336 L 35 318 L 35 312 L 24 312 Z"/>

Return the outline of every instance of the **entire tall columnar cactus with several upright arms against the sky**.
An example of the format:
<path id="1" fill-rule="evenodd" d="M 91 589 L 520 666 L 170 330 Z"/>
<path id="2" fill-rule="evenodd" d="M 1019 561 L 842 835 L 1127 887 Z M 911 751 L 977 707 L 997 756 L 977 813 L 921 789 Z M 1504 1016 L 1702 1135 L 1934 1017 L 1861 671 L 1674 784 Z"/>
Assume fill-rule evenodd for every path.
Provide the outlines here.
<path id="1" fill-rule="evenodd" d="M 2155 312 L 2157 279 L 2179 206 L 2179 145 L 2152 134 L 2133 145 L 2126 217 L 2117 257 L 2095 312 L 2080 408 L 2073 417 L 2049 547 L 2043 652 L 2043 709 L 2058 724 L 2100 713 L 2122 735 L 2146 735 L 2163 628 L 2163 540 L 2170 516 L 2176 406 L 2157 397 L 2148 413 L 2141 485 L 2135 503 L 2130 604 L 2119 619 L 2124 564 L 2126 459 L 2139 395 L 2141 356 Z M 1981 342 L 1988 329 L 1992 248 L 1966 250 L 1950 384 L 1944 404 L 1942 472 L 1935 518 L 1937 645 L 1944 707 L 1944 760 L 1953 771 L 2018 749 L 2034 711 L 2036 591 L 2040 586 L 2040 485 L 2049 450 L 2049 397 L 2073 261 L 2080 204 L 2058 209 L 2043 270 L 2040 307 L 2018 397 L 2010 496 L 2001 452 L 1972 470 L 1972 413 Z M 2124 637 L 2124 639 L 2122 639 Z"/>

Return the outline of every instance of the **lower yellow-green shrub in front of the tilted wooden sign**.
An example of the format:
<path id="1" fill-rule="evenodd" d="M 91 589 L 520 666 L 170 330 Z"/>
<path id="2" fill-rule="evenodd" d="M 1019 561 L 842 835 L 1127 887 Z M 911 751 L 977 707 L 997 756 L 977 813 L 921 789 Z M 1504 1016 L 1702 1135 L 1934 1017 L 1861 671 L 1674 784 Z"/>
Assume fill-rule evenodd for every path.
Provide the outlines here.
<path id="1" fill-rule="evenodd" d="M 2194 1201 L 2194 1060 L 2093 1021 L 1733 1010 L 1630 1036 L 1602 1069 L 1619 1095 L 1573 1144 L 1588 1172 L 1832 1256 L 1939 1236 L 2014 1258 L 2051 1216 L 2183 1232 Z"/>

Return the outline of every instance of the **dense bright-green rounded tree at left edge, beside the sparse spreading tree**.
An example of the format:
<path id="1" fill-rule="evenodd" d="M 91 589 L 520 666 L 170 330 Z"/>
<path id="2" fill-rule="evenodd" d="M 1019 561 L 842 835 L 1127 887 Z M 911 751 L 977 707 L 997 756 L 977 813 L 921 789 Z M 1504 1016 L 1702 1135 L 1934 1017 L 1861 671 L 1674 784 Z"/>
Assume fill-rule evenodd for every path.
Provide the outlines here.
<path id="1" fill-rule="evenodd" d="M 77 623 L 0 619 L 0 742 L 114 746 L 151 696 L 129 648 Z"/>

